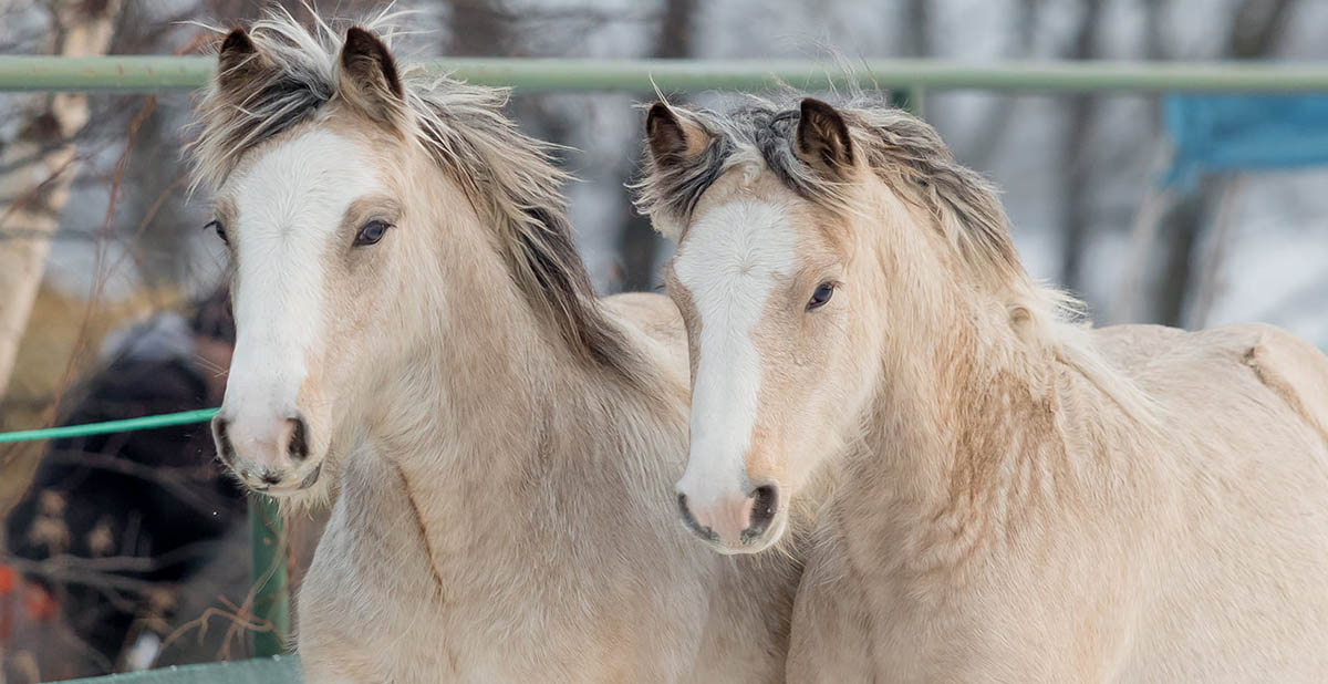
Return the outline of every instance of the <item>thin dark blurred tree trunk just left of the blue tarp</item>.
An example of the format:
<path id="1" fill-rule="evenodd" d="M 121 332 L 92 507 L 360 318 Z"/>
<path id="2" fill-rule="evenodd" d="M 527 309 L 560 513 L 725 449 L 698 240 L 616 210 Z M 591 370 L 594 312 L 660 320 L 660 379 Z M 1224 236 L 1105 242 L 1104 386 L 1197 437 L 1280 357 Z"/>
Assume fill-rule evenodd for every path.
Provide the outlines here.
<path id="1" fill-rule="evenodd" d="M 1104 5 L 1104 0 L 1084 0 L 1068 58 L 1093 58 L 1097 52 L 1097 33 Z M 1088 143 L 1097 118 L 1096 113 L 1094 96 L 1072 96 L 1065 139 L 1061 143 L 1061 228 L 1065 231 L 1061 243 L 1061 284 L 1076 292 L 1084 288 L 1084 251 L 1088 248 L 1088 231 L 1092 224 Z"/>

